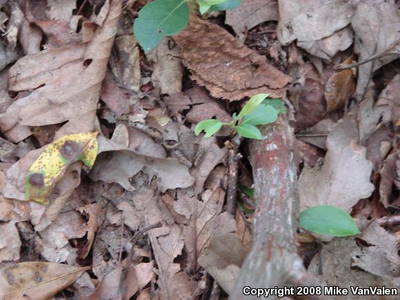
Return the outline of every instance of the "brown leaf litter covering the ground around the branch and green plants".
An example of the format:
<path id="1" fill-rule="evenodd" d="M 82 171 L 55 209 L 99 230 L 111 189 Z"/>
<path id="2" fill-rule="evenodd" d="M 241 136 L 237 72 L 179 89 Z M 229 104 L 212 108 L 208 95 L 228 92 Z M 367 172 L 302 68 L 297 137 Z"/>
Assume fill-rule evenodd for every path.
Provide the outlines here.
<path id="1" fill-rule="evenodd" d="M 257 202 L 239 192 L 236 213 L 226 212 L 232 136 L 196 137 L 194 126 L 232 121 L 239 100 L 260 92 L 288 106 L 301 210 L 342 208 L 361 231 L 299 239 L 301 255 L 329 241 L 303 257 L 308 271 L 321 285 L 399 286 L 393 1 L 243 0 L 191 16 L 149 53 L 132 34 L 143 3 L 103 2 L 0 1 L 2 297 L 230 294 Z M 68 160 L 59 139 L 72 143 Z M 246 146 L 239 184 L 250 187 Z M 49 163 L 61 165 L 32 188 Z"/>

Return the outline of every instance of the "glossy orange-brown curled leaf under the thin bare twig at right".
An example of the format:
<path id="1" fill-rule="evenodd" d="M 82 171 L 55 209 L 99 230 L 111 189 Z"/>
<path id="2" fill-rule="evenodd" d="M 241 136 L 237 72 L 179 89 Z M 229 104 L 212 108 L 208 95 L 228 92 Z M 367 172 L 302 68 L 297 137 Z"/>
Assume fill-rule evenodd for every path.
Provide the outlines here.
<path id="1" fill-rule="evenodd" d="M 350 63 L 352 57 L 344 63 Z M 356 83 L 352 70 L 333 73 L 325 86 L 326 114 L 342 108 L 356 91 Z"/>

